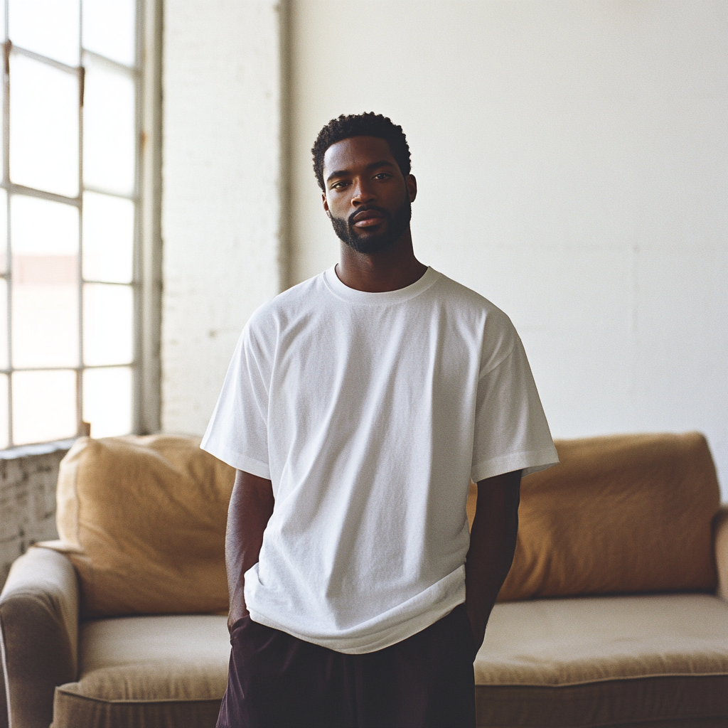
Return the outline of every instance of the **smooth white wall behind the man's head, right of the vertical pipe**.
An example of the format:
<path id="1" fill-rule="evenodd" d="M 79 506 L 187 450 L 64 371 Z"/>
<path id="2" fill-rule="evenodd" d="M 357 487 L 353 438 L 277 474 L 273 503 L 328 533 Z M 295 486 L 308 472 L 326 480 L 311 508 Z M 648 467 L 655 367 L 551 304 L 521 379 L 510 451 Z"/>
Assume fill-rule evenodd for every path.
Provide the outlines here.
<path id="1" fill-rule="evenodd" d="M 291 7 L 291 282 L 336 261 L 317 131 L 389 115 L 416 253 L 510 314 L 553 434 L 701 430 L 728 499 L 728 3 Z"/>

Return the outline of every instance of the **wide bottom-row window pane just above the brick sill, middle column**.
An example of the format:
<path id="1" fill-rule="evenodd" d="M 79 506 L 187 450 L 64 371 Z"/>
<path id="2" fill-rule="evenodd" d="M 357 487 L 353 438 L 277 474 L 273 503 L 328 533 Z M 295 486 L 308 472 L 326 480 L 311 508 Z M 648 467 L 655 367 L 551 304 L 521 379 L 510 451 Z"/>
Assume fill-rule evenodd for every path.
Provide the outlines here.
<path id="1" fill-rule="evenodd" d="M 12 374 L 12 439 L 15 445 L 76 435 L 76 372 Z"/>

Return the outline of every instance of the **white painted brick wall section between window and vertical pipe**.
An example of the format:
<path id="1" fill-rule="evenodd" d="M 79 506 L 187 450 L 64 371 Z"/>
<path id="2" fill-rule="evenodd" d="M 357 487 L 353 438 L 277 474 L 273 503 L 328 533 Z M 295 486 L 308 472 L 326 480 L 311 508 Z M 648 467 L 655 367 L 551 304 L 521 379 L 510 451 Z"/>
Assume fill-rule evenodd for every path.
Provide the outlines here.
<path id="1" fill-rule="evenodd" d="M 202 433 L 240 331 L 282 288 L 273 0 L 166 0 L 162 428 Z"/>

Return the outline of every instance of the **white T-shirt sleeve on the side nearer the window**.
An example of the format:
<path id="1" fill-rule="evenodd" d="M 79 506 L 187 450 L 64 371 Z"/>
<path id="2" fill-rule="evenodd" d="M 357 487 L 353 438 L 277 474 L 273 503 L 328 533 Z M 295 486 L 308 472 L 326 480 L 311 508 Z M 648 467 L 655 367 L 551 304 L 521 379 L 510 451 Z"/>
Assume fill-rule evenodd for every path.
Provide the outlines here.
<path id="1" fill-rule="evenodd" d="M 218 403 L 200 447 L 237 470 L 270 478 L 268 392 L 270 366 L 265 347 L 243 330 Z"/>

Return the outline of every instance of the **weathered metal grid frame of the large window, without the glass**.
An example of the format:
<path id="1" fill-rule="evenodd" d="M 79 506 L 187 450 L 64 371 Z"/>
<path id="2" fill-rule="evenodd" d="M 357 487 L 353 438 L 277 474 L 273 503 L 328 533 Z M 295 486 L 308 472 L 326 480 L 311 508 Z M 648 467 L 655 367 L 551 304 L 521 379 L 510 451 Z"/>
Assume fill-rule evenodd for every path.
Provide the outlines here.
<path id="1" fill-rule="evenodd" d="M 161 161 L 162 161 L 162 0 L 136 0 L 136 47 L 133 68 L 124 67 L 92 52 L 84 51 L 79 58 L 79 66 L 74 68 L 58 61 L 45 58 L 22 47 L 14 47 L 9 40 L 9 1 L 3 0 L 5 20 L 5 36 L 3 39 L 3 83 L 4 98 L 2 110 L 3 132 L 1 142 L 4 148 L 4 159 L 0 186 L 7 190 L 7 342 L 0 346 L 7 347 L 8 366 L 1 370 L 7 374 L 8 397 L 8 439 L 9 446 L 0 452 L 5 456 L 23 448 L 33 450 L 50 446 L 54 448 L 68 440 L 50 443 L 28 443 L 16 445 L 13 442 L 13 402 L 12 373 L 28 370 L 27 367 L 15 368 L 12 362 L 12 253 L 10 245 L 10 199 L 12 194 L 23 194 L 29 197 L 49 199 L 79 210 L 79 256 L 77 284 L 79 296 L 78 331 L 79 331 L 79 363 L 75 367 L 34 367 L 32 371 L 52 371 L 63 369 L 76 373 L 76 434 L 88 434 L 87 426 L 82 419 L 83 413 L 83 372 L 88 367 L 83 360 L 83 240 L 82 211 L 84 191 L 99 191 L 83 184 L 83 93 L 84 93 L 84 56 L 89 53 L 100 63 L 123 68 L 123 73 L 135 81 L 135 140 L 136 164 L 134 191 L 132 196 L 116 195 L 132 199 L 135 205 L 133 275 L 130 288 L 133 294 L 132 325 L 134 327 L 133 354 L 129 364 L 132 369 L 132 433 L 146 434 L 159 430 L 160 419 L 160 314 L 162 294 L 162 240 L 161 240 Z M 79 17 L 79 24 L 80 24 Z M 79 44 L 82 43 L 79 28 Z M 17 53 L 69 74 L 77 74 L 79 81 L 79 191 L 75 198 L 60 194 L 31 189 L 12 183 L 9 175 L 9 63 L 11 54 Z M 122 284 L 127 285 L 127 284 Z M 126 365 L 124 365 L 126 366 Z"/>

